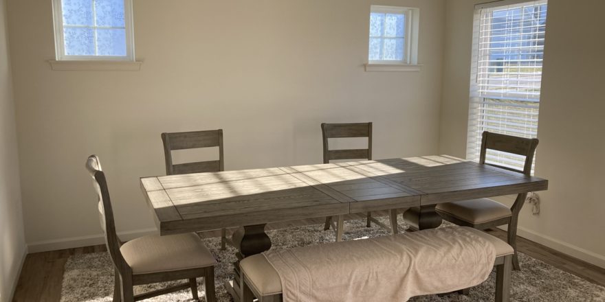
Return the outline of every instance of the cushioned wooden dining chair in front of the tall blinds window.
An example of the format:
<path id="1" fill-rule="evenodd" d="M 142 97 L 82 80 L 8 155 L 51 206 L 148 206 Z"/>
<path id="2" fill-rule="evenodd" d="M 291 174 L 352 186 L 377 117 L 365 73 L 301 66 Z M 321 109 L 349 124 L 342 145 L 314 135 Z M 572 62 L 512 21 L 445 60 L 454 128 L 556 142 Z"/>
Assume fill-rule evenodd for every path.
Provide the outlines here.
<path id="1" fill-rule="evenodd" d="M 481 138 L 479 163 L 530 176 L 536 147 L 538 147 L 538 139 L 526 139 L 523 137 L 500 135 L 498 133 L 485 131 Z M 523 170 L 517 170 L 496 163 L 486 163 L 487 150 L 525 156 Z M 485 230 L 508 224 L 507 241 L 515 250 L 513 267 L 515 270 L 520 270 L 516 244 L 517 222 L 519 219 L 519 212 L 525 203 L 526 197 L 527 193 L 518 194 L 513 206 L 510 208 L 489 198 L 479 198 L 441 203 L 435 207 L 435 210 L 443 219 L 448 220 L 449 222 L 461 226 L 472 227 L 474 229 Z"/>

